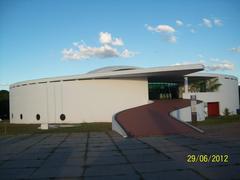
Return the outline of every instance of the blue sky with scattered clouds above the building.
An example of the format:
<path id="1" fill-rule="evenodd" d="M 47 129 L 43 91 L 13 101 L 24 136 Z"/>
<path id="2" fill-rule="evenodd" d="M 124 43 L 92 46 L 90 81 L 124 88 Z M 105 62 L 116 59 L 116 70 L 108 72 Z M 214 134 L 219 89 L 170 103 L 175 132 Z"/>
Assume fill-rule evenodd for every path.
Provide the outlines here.
<path id="1" fill-rule="evenodd" d="M 112 65 L 240 78 L 239 19 L 238 0 L 1 0 L 0 89 Z"/>

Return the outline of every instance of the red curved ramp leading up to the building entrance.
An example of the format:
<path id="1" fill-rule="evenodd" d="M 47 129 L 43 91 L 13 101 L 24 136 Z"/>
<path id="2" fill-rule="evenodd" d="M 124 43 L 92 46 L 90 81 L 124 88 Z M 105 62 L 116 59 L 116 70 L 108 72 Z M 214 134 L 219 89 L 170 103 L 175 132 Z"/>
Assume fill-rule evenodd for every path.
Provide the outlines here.
<path id="1" fill-rule="evenodd" d="M 128 136 L 143 137 L 195 132 L 191 127 L 174 119 L 170 112 L 190 106 L 190 100 L 159 100 L 116 115 L 116 120 Z"/>

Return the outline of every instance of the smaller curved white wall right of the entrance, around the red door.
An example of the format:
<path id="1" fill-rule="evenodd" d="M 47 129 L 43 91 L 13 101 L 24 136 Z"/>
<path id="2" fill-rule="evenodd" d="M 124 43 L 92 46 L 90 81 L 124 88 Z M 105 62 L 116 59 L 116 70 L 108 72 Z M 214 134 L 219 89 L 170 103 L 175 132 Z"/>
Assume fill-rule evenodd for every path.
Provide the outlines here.
<path id="1" fill-rule="evenodd" d="M 199 76 L 204 76 L 204 74 L 199 73 Z M 227 76 L 227 75 L 205 74 L 205 76 L 217 77 L 219 79 L 219 83 L 221 83 L 222 85 L 219 87 L 218 91 L 217 92 L 183 93 L 183 98 L 190 99 L 191 95 L 196 94 L 198 100 L 204 101 L 206 103 L 219 102 L 219 113 L 221 115 L 223 115 L 225 108 L 228 108 L 231 113 L 236 114 L 236 110 L 239 108 L 237 78 L 233 76 Z"/>

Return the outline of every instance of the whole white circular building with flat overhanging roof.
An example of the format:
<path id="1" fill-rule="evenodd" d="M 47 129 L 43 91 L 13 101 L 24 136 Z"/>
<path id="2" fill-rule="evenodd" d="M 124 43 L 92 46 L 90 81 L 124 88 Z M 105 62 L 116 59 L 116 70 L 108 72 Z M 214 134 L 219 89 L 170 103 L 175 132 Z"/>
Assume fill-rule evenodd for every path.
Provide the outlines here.
<path id="1" fill-rule="evenodd" d="M 10 86 L 10 122 L 111 122 L 117 112 L 154 100 L 149 91 L 154 83 L 164 85 L 165 89 L 158 91 L 160 99 L 189 98 L 196 94 L 199 100 L 209 104 L 218 102 L 219 114 L 224 108 L 236 113 L 239 108 L 237 78 L 195 73 L 203 69 L 201 64 L 156 68 L 115 66 L 82 75 L 15 83 Z M 180 95 L 176 87 L 184 84 L 184 77 L 215 77 L 219 78 L 221 86 L 216 92 L 191 93 L 185 78 L 185 92 Z"/>

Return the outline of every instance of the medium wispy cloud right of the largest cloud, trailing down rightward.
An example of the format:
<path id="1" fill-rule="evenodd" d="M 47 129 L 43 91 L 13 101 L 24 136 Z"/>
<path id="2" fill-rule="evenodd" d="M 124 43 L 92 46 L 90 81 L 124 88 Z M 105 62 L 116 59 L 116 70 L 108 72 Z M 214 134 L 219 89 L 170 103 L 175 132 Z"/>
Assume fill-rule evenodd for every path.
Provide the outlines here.
<path id="1" fill-rule="evenodd" d="M 162 38 L 170 43 L 175 43 L 177 41 L 177 37 L 175 36 L 176 30 L 169 25 L 158 25 L 153 27 L 146 24 L 145 27 L 149 31 L 160 33 Z"/>

